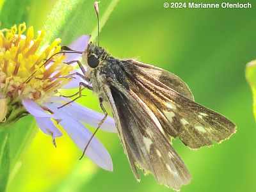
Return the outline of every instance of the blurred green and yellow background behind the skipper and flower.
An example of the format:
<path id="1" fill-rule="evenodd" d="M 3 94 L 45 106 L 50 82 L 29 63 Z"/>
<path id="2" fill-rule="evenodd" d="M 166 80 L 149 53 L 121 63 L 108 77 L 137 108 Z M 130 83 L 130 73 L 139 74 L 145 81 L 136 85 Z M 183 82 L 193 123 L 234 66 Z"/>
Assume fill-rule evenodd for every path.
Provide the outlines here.
<path id="1" fill-rule="evenodd" d="M 244 77 L 246 63 L 256 58 L 256 3 L 250 1 L 250 9 L 166 9 L 164 2 L 170 1 L 119 1 L 102 28 L 100 44 L 118 58 L 138 58 L 177 74 L 197 102 L 237 125 L 236 134 L 211 148 L 189 150 L 173 142 L 193 177 L 181 191 L 256 191 L 256 126 Z M 28 24 L 42 28 L 53 5 L 34 1 L 28 12 L 41 17 Z M 95 95 L 86 93 L 79 102 L 100 111 Z M 67 135 L 54 148 L 39 131 L 7 191 L 172 191 L 151 175 L 141 174 L 141 182 L 136 181 L 116 134 L 102 131 L 97 137 L 111 154 L 113 173 L 89 159 L 79 161 L 81 151 Z"/>

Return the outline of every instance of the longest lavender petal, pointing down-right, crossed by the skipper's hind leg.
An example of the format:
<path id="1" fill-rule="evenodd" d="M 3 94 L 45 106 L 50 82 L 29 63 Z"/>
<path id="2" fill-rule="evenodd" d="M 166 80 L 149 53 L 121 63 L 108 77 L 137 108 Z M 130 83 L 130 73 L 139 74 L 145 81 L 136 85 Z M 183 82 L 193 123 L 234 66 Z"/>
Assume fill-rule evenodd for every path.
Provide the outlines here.
<path id="1" fill-rule="evenodd" d="M 65 129 L 74 143 L 76 143 L 77 147 L 83 151 L 84 147 L 88 143 L 88 140 L 92 136 L 92 132 L 86 129 L 86 127 L 76 119 L 65 113 L 65 111 L 56 108 L 54 104 L 47 103 L 46 105 L 62 119 L 60 125 L 63 127 L 63 129 Z M 99 140 L 97 140 L 95 136 L 86 149 L 85 155 L 105 170 L 113 171 L 113 163 L 108 150 L 106 150 L 106 148 L 102 145 L 102 143 L 100 143 Z"/>

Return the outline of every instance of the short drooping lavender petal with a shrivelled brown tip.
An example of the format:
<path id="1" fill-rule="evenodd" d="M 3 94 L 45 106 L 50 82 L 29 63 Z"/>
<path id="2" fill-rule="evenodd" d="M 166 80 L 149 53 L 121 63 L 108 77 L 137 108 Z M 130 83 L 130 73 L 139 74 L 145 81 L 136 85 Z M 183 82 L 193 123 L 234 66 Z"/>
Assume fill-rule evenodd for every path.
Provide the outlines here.
<path id="1" fill-rule="evenodd" d="M 36 117 L 36 122 L 38 127 L 45 133 L 52 136 L 52 143 L 56 146 L 55 138 L 62 136 L 62 133 L 59 129 L 55 127 L 55 125 L 52 123 L 51 118 L 45 118 L 45 117 Z"/>

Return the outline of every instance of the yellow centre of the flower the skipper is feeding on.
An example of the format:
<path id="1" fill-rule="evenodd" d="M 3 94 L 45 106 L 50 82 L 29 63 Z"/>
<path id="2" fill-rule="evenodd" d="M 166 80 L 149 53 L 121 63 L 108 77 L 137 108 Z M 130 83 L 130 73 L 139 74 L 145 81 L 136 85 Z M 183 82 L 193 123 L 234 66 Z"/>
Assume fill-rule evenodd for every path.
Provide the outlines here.
<path id="1" fill-rule="evenodd" d="M 25 31 L 26 36 L 23 35 Z M 70 78 L 60 78 L 74 70 L 63 63 L 66 56 L 58 54 L 45 63 L 52 54 L 60 52 L 61 40 L 58 38 L 39 51 L 44 34 L 38 31 L 33 39 L 33 27 L 26 30 L 25 23 L 18 29 L 15 25 L 0 30 L 0 93 L 11 102 L 26 98 L 42 102 L 70 81 Z"/>

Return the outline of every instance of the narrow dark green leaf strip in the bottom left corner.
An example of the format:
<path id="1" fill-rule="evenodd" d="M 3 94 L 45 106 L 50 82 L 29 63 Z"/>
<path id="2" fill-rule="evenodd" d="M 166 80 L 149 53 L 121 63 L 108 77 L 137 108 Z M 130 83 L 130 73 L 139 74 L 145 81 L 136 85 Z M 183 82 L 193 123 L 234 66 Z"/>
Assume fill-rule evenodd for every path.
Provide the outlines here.
<path id="1" fill-rule="evenodd" d="M 9 132 L 0 133 L 0 191 L 5 191 L 10 173 Z"/>

